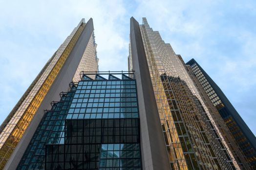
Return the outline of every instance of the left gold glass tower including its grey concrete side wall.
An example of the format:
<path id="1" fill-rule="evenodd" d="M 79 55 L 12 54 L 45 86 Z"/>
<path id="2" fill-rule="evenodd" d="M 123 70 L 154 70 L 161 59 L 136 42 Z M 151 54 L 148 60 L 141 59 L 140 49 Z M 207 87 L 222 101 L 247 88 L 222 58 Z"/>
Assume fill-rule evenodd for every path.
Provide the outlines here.
<path id="1" fill-rule="evenodd" d="M 45 109 L 58 100 L 69 83 L 80 79 L 82 70 L 96 71 L 98 58 L 93 22 L 82 19 L 53 54 L 20 101 L 0 126 L 0 169 L 18 165 Z M 79 79 L 78 79 L 79 78 Z"/>

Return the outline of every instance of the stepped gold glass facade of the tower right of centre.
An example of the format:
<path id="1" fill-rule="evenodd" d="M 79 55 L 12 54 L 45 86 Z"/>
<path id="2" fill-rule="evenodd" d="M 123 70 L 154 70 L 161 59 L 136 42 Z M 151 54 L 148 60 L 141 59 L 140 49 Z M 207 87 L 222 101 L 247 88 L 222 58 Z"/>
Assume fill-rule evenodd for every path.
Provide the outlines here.
<path id="1" fill-rule="evenodd" d="M 146 18 L 140 25 L 140 33 L 171 168 L 242 169 L 243 165 L 223 126 L 204 100 L 201 89 L 193 82 L 181 56 L 176 55 L 171 45 L 162 40 L 159 32 L 149 27 Z M 130 48 L 129 45 L 128 67 L 131 70 Z M 205 88 L 211 89 L 209 85 Z M 212 99 L 218 100 L 214 95 Z M 189 156 L 184 136 L 192 145 Z M 243 164 L 248 168 L 246 162 Z"/>

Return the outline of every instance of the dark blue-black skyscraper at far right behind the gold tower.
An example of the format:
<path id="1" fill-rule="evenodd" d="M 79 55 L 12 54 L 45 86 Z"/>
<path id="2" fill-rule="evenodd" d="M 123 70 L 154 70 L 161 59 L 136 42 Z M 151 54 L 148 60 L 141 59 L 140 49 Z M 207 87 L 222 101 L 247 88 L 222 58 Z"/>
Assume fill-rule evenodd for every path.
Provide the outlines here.
<path id="1" fill-rule="evenodd" d="M 191 66 L 194 75 L 235 137 L 248 162 L 256 169 L 256 137 L 204 69 L 194 59 L 191 59 L 186 64 Z"/>

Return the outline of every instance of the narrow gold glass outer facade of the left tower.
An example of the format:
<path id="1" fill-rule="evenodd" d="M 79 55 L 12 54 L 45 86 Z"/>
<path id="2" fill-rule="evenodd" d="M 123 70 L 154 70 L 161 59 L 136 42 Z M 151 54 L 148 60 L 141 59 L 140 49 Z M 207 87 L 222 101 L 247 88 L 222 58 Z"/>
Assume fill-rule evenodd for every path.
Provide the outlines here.
<path id="1" fill-rule="evenodd" d="M 23 99 L 19 101 L 15 113 L 11 113 L 4 124 L 1 126 L 0 134 L 0 169 L 3 169 L 7 160 L 13 153 L 18 142 L 21 140 L 25 130 L 34 117 L 37 109 L 47 94 L 50 86 L 57 77 L 60 69 L 64 65 L 70 51 L 74 47 L 79 35 L 85 28 L 85 22 L 82 20 L 78 27 L 67 37 L 64 44 L 58 49 L 55 55 L 46 64 L 36 82 L 33 82 L 31 91 L 28 89 Z M 8 121 L 8 122 L 7 122 Z"/>

